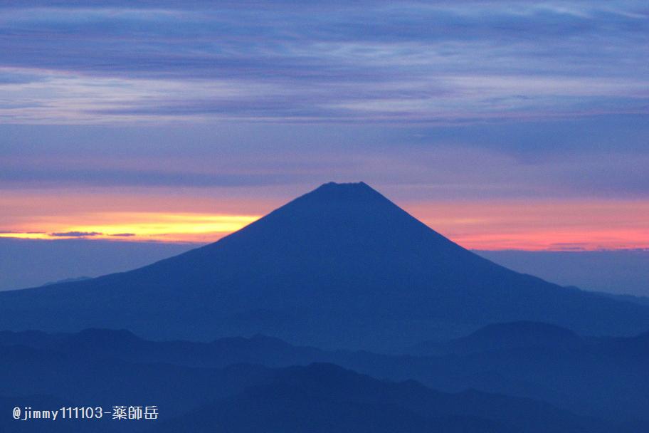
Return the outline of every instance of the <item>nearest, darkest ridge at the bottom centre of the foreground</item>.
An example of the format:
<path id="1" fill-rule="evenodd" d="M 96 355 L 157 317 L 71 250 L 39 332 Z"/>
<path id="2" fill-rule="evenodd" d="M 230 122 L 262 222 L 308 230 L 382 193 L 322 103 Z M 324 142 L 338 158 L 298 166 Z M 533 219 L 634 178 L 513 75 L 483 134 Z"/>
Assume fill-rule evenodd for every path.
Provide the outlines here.
<path id="1" fill-rule="evenodd" d="M 153 432 L 606 432 L 606 422 L 544 403 L 480 392 L 448 394 L 329 364 L 280 370 L 268 385 L 162 424 Z M 618 427 L 618 426 L 616 426 Z"/>

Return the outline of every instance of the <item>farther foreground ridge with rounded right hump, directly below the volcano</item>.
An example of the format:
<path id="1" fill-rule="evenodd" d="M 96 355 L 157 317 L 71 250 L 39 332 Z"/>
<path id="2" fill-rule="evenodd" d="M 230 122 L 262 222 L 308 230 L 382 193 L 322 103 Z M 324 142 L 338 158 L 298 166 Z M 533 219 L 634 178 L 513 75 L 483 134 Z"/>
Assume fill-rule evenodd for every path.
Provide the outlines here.
<path id="1" fill-rule="evenodd" d="M 512 335 L 515 338 L 512 340 Z M 544 339 L 537 340 L 539 335 Z M 552 336 L 564 338 L 551 338 Z M 484 339 L 484 341 L 482 341 Z M 462 344 L 457 344 L 461 342 Z M 468 343 L 470 344 L 468 344 Z M 500 342 L 496 345 L 493 342 Z M 512 344 L 513 343 L 513 344 Z M 325 351 L 317 348 L 297 347 L 263 335 L 251 338 L 220 338 L 210 343 L 188 341 L 149 341 L 125 330 L 89 329 L 75 334 L 48 334 L 42 332 L 1 332 L 0 369 L 9 371 L 9 379 L 3 379 L 4 392 L 15 377 L 27 380 L 31 372 L 39 377 L 48 376 L 41 367 L 31 366 L 31 358 L 18 358 L 19 367 L 2 365 L 6 356 L 15 348 L 36 349 L 39 362 L 63 360 L 74 362 L 65 366 L 60 361 L 50 370 L 65 368 L 66 371 L 83 374 L 95 365 L 99 377 L 110 375 L 102 370 L 106 360 L 118 365 L 176 365 L 189 369 L 222 369 L 230 365 L 263 365 L 265 367 L 290 367 L 326 362 L 366 374 L 394 381 L 417 380 L 428 387 L 445 392 L 463 392 L 468 389 L 481 392 L 497 392 L 502 395 L 528 397 L 543 400 L 576 414 L 600 417 L 611 421 L 640 419 L 649 422 L 649 333 L 630 338 L 581 338 L 571 331 L 543 323 L 493 324 L 468 337 L 440 343 L 448 354 L 437 356 L 382 355 L 366 351 Z M 13 349 L 12 349 L 13 348 Z M 486 348 L 486 349 L 485 349 Z M 455 353 L 451 353 L 455 350 Z M 27 352 L 33 353 L 33 352 Z M 82 362 L 81 365 L 76 363 Z M 134 371 L 137 380 L 151 378 L 155 372 Z M 159 367 L 155 367 L 159 370 Z M 26 370 L 24 375 L 22 370 Z M 92 371 L 92 370 L 91 370 Z M 185 371 L 185 370 L 181 370 Z M 164 374 L 172 374 L 164 372 Z M 92 377 L 85 373 L 88 382 Z M 163 374 L 163 373 L 160 373 Z M 175 374 L 175 373 L 174 373 Z M 21 376 L 22 375 L 22 376 Z M 56 375 L 55 375 L 56 376 Z M 133 377 L 122 377 L 128 383 Z M 108 377 L 108 376 L 107 376 Z M 236 375 L 233 378 L 236 382 Z M 598 380 L 593 380 L 597 377 Z M 78 377 L 68 377 L 73 383 Z M 202 385 L 189 373 L 170 380 L 190 383 L 187 392 L 194 395 L 203 390 Z M 211 383 L 202 379 L 204 383 Z M 4 381 L 4 382 L 3 382 Z M 114 382 L 114 380 L 113 380 Z M 30 382 L 28 382 L 30 383 Z M 99 380 L 98 383 L 102 383 Z M 140 382 L 145 383 L 145 382 Z M 21 385 L 21 382 L 18 382 Z M 26 388 L 25 385 L 22 385 Z M 73 390 L 65 390 L 75 395 Z M 223 387 L 223 385 L 219 385 Z M 179 383 L 179 391 L 186 385 Z M 155 390 L 156 387 L 149 386 Z M 14 390 L 21 390 L 18 386 Z M 36 387 L 33 393 L 53 392 L 53 387 Z M 25 389 L 27 391 L 27 389 Z M 164 392 L 164 388 L 161 390 Z M 178 394 L 176 392 L 176 394 Z M 204 392 L 204 391 L 201 391 Z M 68 394 L 65 394 L 66 396 Z M 164 395 L 164 394 L 163 394 Z M 173 397 L 172 397 L 173 398 Z M 157 401 L 162 397 L 156 396 Z M 641 431 L 642 429 L 640 429 Z"/>

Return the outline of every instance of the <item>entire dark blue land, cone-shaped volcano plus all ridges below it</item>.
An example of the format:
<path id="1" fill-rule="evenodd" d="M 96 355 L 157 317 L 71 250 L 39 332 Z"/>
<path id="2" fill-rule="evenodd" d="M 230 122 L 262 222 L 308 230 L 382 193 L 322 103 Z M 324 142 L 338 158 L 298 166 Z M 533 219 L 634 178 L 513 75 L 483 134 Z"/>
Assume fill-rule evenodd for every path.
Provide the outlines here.
<path id="1" fill-rule="evenodd" d="M 144 268 L 0 293 L 0 328 L 7 414 L 157 405 L 159 422 L 119 426 L 152 433 L 649 428 L 647 306 L 497 266 L 362 183 Z"/>

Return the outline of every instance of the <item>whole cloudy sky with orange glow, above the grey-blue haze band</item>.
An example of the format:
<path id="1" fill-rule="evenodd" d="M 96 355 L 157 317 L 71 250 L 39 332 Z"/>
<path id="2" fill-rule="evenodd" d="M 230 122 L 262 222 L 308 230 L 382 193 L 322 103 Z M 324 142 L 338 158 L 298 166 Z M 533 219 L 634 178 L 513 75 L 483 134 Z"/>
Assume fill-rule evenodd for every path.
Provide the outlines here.
<path id="1" fill-rule="evenodd" d="M 362 180 L 470 249 L 648 249 L 648 58 L 646 1 L 2 1 L 0 237 Z"/>

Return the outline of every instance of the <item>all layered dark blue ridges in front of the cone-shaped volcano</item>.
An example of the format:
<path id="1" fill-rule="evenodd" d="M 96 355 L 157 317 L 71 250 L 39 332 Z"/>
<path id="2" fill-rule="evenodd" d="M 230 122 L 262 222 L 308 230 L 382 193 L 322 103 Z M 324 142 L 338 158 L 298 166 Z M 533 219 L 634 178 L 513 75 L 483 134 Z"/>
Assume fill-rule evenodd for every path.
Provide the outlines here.
<path id="1" fill-rule="evenodd" d="M 554 341 L 555 335 L 565 338 Z M 57 401 L 107 409 L 122 402 L 156 404 L 161 424 L 152 432 L 635 433 L 649 428 L 649 334 L 594 339 L 542 323 L 503 323 L 444 347 L 447 355 L 413 357 L 327 352 L 261 335 L 191 343 L 148 341 L 125 330 L 4 331 L 0 409 L 64 405 Z M 389 381 L 376 379 L 381 377 Z M 0 431 L 3 426 L 11 432 L 153 427 L 110 419 L 81 424 L 86 429 L 41 424 L 6 417 Z M 16 428 L 21 426 L 25 429 Z"/>

